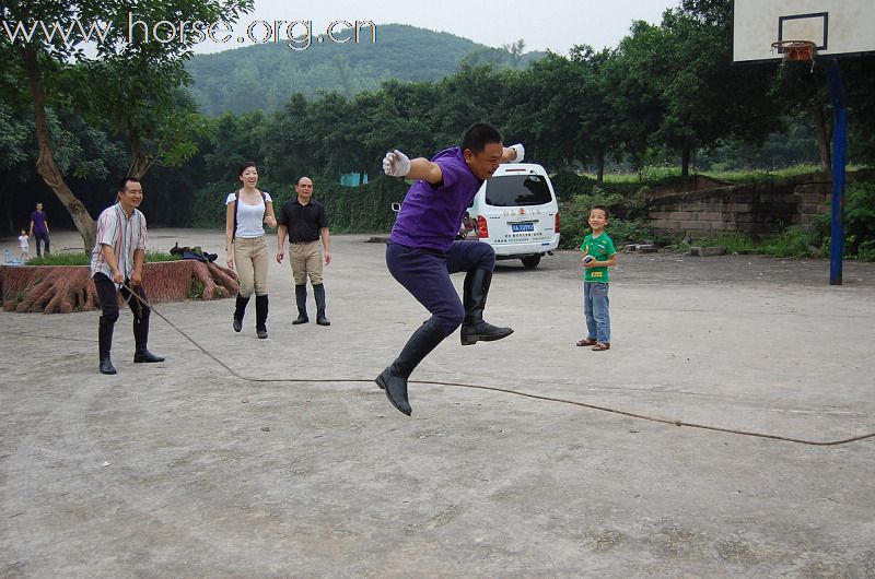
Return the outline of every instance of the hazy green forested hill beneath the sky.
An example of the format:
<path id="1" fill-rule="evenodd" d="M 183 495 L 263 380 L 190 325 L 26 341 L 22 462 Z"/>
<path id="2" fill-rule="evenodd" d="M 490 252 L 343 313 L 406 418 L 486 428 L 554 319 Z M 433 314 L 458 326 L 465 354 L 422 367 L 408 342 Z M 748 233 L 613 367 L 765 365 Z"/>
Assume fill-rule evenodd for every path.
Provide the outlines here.
<path id="1" fill-rule="evenodd" d="M 404 24 L 376 26 L 376 42 L 362 31 L 359 44 L 331 43 L 314 36 L 306 50 L 285 43 L 247 46 L 213 55 L 197 55 L 186 67 L 190 91 L 205 115 L 277 110 L 294 93 L 307 97 L 337 91 L 353 96 L 375 90 L 389 79 L 434 81 L 454 73 L 467 59 L 499 67 L 522 67 L 542 52 L 515 56 L 467 38 Z M 351 34 L 336 33 L 343 38 Z"/>

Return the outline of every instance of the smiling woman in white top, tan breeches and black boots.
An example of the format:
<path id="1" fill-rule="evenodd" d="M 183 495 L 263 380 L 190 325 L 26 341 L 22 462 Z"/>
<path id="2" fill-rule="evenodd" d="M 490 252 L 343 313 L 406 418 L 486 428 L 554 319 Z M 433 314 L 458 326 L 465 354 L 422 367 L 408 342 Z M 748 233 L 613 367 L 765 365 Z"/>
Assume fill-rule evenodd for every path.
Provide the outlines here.
<path id="1" fill-rule="evenodd" d="M 241 165 L 237 178 L 243 187 L 225 199 L 228 267 L 237 273 L 240 283 L 233 328 L 235 332 L 243 329 L 246 305 L 255 293 L 255 331 L 264 339 L 267 338 L 267 270 L 270 265 L 264 225 L 276 227 L 277 218 L 270 193 L 256 188 L 258 169 L 255 163 Z"/>

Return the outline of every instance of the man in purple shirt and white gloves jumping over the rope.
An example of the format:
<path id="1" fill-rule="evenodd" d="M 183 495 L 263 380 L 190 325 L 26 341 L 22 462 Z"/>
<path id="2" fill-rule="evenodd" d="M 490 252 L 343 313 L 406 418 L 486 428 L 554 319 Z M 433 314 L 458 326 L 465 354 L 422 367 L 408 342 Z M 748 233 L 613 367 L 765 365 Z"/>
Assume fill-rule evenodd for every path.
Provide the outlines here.
<path id="1" fill-rule="evenodd" d="M 495 267 L 495 251 L 488 244 L 455 241 L 465 210 L 499 164 L 521 162 L 523 145 L 502 145 L 501 133 L 486 123 L 465 131 L 460 146 L 441 151 L 431 161 L 412 161 L 398 150 L 383 159 L 383 170 L 416 182 L 405 197 L 386 246 L 386 264 L 393 277 L 430 312 L 410 336 L 401 353 L 376 383 L 389 402 L 407 414 L 407 380 L 420 362 L 444 338 L 462 326 L 462 344 L 501 340 L 513 333 L 483 321 L 483 307 Z M 450 274 L 466 272 L 463 300 Z M 464 304 L 463 304 L 464 302 Z"/>

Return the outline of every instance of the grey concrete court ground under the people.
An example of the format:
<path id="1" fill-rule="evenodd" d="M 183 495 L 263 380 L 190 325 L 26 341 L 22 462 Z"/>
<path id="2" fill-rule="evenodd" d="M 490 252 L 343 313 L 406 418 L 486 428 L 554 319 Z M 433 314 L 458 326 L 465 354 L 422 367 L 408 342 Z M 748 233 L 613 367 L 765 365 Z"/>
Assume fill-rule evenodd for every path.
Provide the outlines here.
<path id="1" fill-rule="evenodd" d="M 0 312 L 0 577 L 875 577 L 875 438 L 428 383 L 401 415 L 370 380 L 425 315 L 366 238 L 334 237 L 330 328 L 291 326 L 288 262 L 268 340 L 254 311 L 231 330 L 229 299 L 155 306 L 277 381 L 158 316 L 168 359 L 135 366 L 124 311 L 102 376 L 97 312 Z M 176 241 L 223 259 L 220 232 L 151 232 Z M 500 263 L 487 319 L 512 336 L 451 336 L 413 379 L 875 432 L 875 264 L 830 287 L 822 260 L 620 255 L 611 276 L 609 352 L 574 346 L 579 257 L 559 252 Z"/>

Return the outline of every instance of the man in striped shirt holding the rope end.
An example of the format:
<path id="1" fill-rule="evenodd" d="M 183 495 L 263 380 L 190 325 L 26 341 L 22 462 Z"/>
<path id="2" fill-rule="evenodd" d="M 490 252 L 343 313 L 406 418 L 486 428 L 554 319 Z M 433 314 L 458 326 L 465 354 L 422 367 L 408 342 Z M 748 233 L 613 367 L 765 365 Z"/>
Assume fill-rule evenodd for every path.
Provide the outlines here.
<path id="1" fill-rule="evenodd" d="M 142 286 L 145 217 L 137 209 L 142 200 L 140 181 L 125 177 L 118 184 L 118 202 L 105 209 L 97 218 L 97 243 L 91 252 L 91 275 L 101 302 L 97 338 L 102 374 L 116 374 L 109 351 L 113 347 L 113 329 L 118 320 L 118 292 L 121 292 L 121 297 L 133 312 L 133 362 L 164 362 L 163 357 L 147 348 L 150 309 Z"/>

